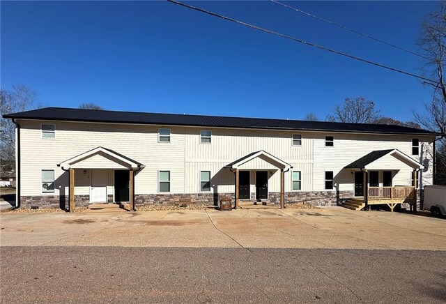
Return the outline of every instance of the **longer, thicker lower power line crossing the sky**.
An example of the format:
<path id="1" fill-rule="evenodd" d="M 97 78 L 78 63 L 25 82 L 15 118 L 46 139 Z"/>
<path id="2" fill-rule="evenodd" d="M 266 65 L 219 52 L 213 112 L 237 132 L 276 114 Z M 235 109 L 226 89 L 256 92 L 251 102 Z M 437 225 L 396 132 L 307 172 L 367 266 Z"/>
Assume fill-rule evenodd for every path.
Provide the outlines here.
<path id="1" fill-rule="evenodd" d="M 249 23 L 246 23 L 246 22 L 243 22 L 243 21 L 235 20 L 235 19 L 230 18 L 230 17 L 225 17 L 225 16 L 223 16 L 223 15 L 219 15 L 219 14 L 217 14 L 217 13 L 213 13 L 213 12 L 210 12 L 210 11 L 208 11 L 208 10 L 203 10 L 202 8 L 197 8 L 196 6 L 190 6 L 189 4 L 181 3 L 181 2 L 176 1 L 176 0 L 167 0 L 167 1 L 169 1 L 169 2 L 171 2 L 171 3 L 178 4 L 178 5 L 180 5 L 180 6 L 184 6 L 184 7 L 186 7 L 186 8 L 191 8 L 192 10 L 197 10 L 197 11 L 199 11 L 199 12 L 201 12 L 201 13 L 206 13 L 206 14 L 208 14 L 208 15 L 212 15 L 212 16 L 214 16 L 214 17 L 219 17 L 219 18 L 222 18 L 222 19 L 224 19 L 224 20 L 228 20 L 228 21 L 231 21 L 231 22 L 235 22 L 235 23 L 237 23 L 237 24 L 241 24 L 241 25 L 244 25 L 244 26 L 248 26 L 248 27 L 250 27 L 250 28 L 252 28 L 252 29 L 256 29 L 256 30 L 258 30 L 258 31 L 264 31 L 265 33 L 270 33 L 270 34 L 275 35 L 275 36 L 279 36 L 279 37 L 282 37 L 282 38 L 286 38 L 286 39 L 289 39 L 289 40 L 293 40 L 293 41 L 298 42 L 298 43 L 302 43 L 302 44 L 305 44 L 305 45 L 309 45 L 309 46 L 312 46 L 312 47 L 316 47 L 316 48 L 318 48 L 318 49 L 321 49 L 321 50 L 324 50 L 324 51 L 327 51 L 327 52 L 332 52 L 332 53 L 334 53 L 334 54 L 338 54 L 338 55 L 341 55 L 341 56 L 346 56 L 346 57 L 348 57 L 348 58 L 355 59 L 355 60 L 357 60 L 357 61 L 362 61 L 362 62 L 365 62 L 365 63 L 369 63 L 369 64 L 372 64 L 372 65 L 374 65 L 374 66 L 378 66 L 378 67 L 380 67 L 380 68 L 385 68 L 385 69 L 387 69 L 387 70 L 392 70 L 392 71 L 397 72 L 397 73 L 401 73 L 401 74 L 404 74 L 404 75 L 408 75 L 408 76 L 412 76 L 412 77 L 415 77 L 415 78 L 418 78 L 418 79 L 422 79 L 422 80 L 424 80 L 424 81 L 426 81 L 426 82 L 431 82 L 431 83 L 433 83 L 433 84 L 442 84 L 442 83 L 440 83 L 440 82 L 437 82 L 436 80 L 432 80 L 432 79 L 429 79 L 429 78 L 426 78 L 426 77 L 422 77 L 422 76 L 420 76 L 420 75 L 415 75 L 415 74 L 413 74 L 413 73 L 409 73 L 409 72 L 406 72 L 406 71 L 403 71 L 403 70 L 399 70 L 399 69 L 397 69 L 397 68 L 392 68 L 392 67 L 390 67 L 390 66 L 385 66 L 384 64 L 376 63 L 376 62 L 374 62 L 374 61 L 370 61 L 370 60 L 367 60 L 367 59 L 362 59 L 362 58 L 360 58 L 360 57 L 353 56 L 353 55 L 351 55 L 351 54 L 346 54 L 346 53 L 344 53 L 344 52 L 339 52 L 339 51 L 337 51 L 337 50 L 333 50 L 333 49 L 330 49 L 330 48 L 328 48 L 328 47 L 323 47 L 323 46 L 321 46 L 321 45 L 316 45 L 316 44 L 314 44 L 314 43 L 309 43 L 309 42 L 307 42 L 307 41 L 305 41 L 305 40 L 301 40 L 301 39 L 299 39 L 299 38 L 294 38 L 294 37 L 285 35 L 285 34 L 283 34 L 283 33 L 277 33 L 276 31 L 270 31 L 269 29 L 263 29 L 263 28 L 260 27 L 260 26 L 255 26 L 255 25 L 253 25 L 253 24 L 249 24 Z"/>

